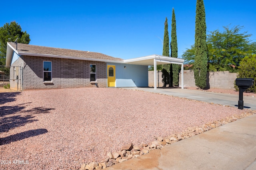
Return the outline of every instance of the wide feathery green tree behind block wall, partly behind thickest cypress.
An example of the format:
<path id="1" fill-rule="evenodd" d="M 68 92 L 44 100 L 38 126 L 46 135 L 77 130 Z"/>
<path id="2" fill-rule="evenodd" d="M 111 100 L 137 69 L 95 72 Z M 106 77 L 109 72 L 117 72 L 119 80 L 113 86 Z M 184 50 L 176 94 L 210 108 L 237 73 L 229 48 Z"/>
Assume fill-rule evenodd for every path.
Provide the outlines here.
<path id="1" fill-rule="evenodd" d="M 248 38 L 251 34 L 242 32 L 239 25 L 224 31 L 218 29 L 207 35 L 208 70 L 237 72 L 240 61 L 249 54 L 256 53 L 256 43 Z M 194 62 L 194 45 L 186 49 L 182 58 L 186 64 Z"/>

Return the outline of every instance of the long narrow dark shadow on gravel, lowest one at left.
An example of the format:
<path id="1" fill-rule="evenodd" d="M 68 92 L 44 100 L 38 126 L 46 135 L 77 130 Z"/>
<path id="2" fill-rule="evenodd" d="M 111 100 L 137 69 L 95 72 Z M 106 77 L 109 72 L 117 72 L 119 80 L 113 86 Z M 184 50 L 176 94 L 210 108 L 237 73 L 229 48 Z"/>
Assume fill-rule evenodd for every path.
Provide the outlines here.
<path id="1" fill-rule="evenodd" d="M 16 142 L 29 137 L 42 135 L 47 132 L 48 132 L 47 129 L 35 129 L 35 130 L 29 130 L 29 131 L 17 133 L 15 135 L 10 135 L 8 137 L 0 138 L 0 145 L 6 145 L 11 142 Z"/>

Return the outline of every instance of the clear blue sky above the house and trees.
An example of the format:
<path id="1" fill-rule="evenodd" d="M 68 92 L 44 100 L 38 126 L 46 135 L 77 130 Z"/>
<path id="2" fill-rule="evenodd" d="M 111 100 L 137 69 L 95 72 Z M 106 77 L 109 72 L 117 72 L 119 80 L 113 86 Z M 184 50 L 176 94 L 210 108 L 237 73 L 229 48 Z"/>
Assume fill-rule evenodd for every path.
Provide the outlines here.
<path id="1" fill-rule="evenodd" d="M 240 25 L 256 41 L 256 1 L 204 0 L 204 5 L 207 31 Z M 172 8 L 178 56 L 194 44 L 196 0 L 4 0 L 1 6 L 0 26 L 16 21 L 30 35 L 31 45 L 122 59 L 162 55 L 164 21 L 167 17 L 170 36 Z"/>

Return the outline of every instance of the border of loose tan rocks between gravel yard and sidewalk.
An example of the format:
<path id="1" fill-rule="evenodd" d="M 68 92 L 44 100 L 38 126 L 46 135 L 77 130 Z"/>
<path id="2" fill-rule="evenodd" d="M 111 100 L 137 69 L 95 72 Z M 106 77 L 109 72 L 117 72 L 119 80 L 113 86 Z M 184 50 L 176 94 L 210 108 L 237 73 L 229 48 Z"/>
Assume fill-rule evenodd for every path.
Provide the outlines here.
<path id="1" fill-rule="evenodd" d="M 209 122 L 201 127 L 188 127 L 185 131 L 178 134 L 172 134 L 168 137 L 157 137 L 155 141 L 152 141 L 148 144 L 140 144 L 139 146 L 134 146 L 132 143 L 124 145 L 119 151 L 117 152 L 108 152 L 106 159 L 101 160 L 100 162 L 90 162 L 88 164 L 82 164 L 80 170 L 101 170 L 106 167 L 112 166 L 114 164 L 124 162 L 126 160 L 136 158 L 142 154 L 146 154 L 154 149 L 160 149 L 165 145 L 170 145 L 172 143 L 178 142 L 183 139 L 187 139 L 189 137 L 198 135 L 205 131 L 209 131 L 221 125 L 225 125 L 227 123 L 236 121 L 238 119 L 242 119 L 249 115 L 255 114 L 256 111 L 247 111 L 240 115 L 233 115 L 232 117 L 226 117 L 221 119 L 220 121 Z"/>

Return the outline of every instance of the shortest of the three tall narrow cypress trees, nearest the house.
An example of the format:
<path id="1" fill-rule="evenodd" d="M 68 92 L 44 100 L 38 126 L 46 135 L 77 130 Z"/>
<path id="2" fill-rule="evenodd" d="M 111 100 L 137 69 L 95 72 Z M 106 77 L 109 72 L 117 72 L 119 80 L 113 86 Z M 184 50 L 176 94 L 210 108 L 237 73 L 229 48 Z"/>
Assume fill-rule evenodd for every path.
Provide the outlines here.
<path id="1" fill-rule="evenodd" d="M 169 46 L 169 33 L 168 33 L 168 20 L 165 18 L 164 22 L 164 44 L 163 44 L 163 56 L 170 56 L 170 46 Z M 162 65 L 162 82 L 164 83 L 164 87 L 169 84 L 170 79 L 170 64 Z"/>

